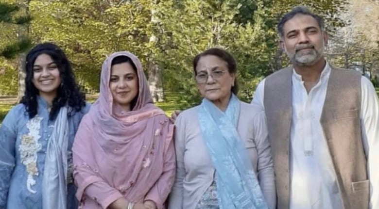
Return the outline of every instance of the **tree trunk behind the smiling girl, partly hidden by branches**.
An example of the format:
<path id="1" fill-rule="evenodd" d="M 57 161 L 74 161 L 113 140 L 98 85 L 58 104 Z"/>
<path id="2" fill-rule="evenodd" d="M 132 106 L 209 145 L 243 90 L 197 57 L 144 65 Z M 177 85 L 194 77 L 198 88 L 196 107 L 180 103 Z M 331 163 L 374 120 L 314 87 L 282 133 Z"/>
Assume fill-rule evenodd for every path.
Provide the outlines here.
<path id="1" fill-rule="evenodd" d="M 25 0 L 20 5 L 21 10 L 25 11 L 26 15 L 29 15 L 29 2 L 30 0 Z M 20 40 L 29 35 L 29 24 L 21 25 L 18 29 L 17 38 Z M 17 71 L 18 71 L 18 90 L 17 90 L 17 103 L 20 102 L 22 96 L 25 93 L 25 61 L 26 61 L 26 53 L 20 53 L 18 55 L 17 62 Z"/>

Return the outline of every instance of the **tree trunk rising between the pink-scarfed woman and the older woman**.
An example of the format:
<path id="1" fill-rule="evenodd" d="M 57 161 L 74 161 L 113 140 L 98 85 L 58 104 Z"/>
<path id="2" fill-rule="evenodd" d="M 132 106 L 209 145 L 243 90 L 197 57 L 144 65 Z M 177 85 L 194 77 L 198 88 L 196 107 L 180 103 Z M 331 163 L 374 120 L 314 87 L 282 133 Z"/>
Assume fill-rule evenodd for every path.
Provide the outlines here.
<path id="1" fill-rule="evenodd" d="M 163 82 L 162 82 L 162 70 L 159 66 L 159 64 L 156 62 L 155 59 L 155 48 L 158 46 L 158 38 L 155 36 L 155 34 L 158 33 L 157 27 L 159 25 L 159 20 L 156 17 L 155 13 L 156 10 L 155 5 L 157 4 L 157 0 L 153 1 L 153 9 L 151 11 L 151 22 L 153 25 L 153 34 L 150 37 L 149 42 L 151 43 L 150 46 L 153 46 L 150 56 L 149 56 L 149 65 L 148 65 L 148 72 L 149 72 L 149 87 L 150 91 L 153 97 L 154 102 L 162 102 L 164 101 L 164 93 L 163 93 Z"/>

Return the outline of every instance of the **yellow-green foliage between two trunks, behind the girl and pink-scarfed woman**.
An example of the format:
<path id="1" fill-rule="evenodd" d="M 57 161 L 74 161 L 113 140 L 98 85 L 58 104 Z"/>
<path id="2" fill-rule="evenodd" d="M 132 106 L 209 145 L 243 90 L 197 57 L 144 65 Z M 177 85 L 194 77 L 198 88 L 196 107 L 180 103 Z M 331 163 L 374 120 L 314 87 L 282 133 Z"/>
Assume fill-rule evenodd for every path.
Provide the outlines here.
<path id="1" fill-rule="evenodd" d="M 32 31 L 38 41 L 64 48 L 81 84 L 97 91 L 101 65 L 110 53 L 128 50 L 146 60 L 150 6 L 150 0 L 32 1 Z"/>

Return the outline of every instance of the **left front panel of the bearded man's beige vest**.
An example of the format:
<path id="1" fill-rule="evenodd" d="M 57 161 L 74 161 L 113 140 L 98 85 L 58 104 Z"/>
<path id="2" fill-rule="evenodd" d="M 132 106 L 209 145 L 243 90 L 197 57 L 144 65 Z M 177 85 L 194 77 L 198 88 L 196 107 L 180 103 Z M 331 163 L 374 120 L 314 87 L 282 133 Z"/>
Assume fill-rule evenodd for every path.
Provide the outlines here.
<path id="1" fill-rule="evenodd" d="M 289 154 L 292 120 L 292 67 L 279 70 L 266 78 L 263 102 L 276 173 L 278 209 L 288 209 L 290 198 Z"/>

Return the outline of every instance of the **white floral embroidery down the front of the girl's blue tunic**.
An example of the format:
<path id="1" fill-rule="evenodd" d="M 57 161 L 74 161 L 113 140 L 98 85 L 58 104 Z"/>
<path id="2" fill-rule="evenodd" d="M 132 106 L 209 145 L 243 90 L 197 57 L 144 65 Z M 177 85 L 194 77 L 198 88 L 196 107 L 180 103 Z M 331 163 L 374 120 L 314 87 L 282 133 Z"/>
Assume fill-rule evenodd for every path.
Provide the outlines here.
<path id="1" fill-rule="evenodd" d="M 26 124 L 29 133 L 21 136 L 21 145 L 18 147 L 21 155 L 21 162 L 26 166 L 26 171 L 28 172 L 26 188 L 33 194 L 36 193 L 36 191 L 32 189 L 32 186 L 35 185 L 33 176 L 38 176 L 37 152 L 41 150 L 42 147 L 42 145 L 38 143 L 39 138 L 41 138 L 39 135 L 41 121 L 42 117 L 36 115 Z"/>

